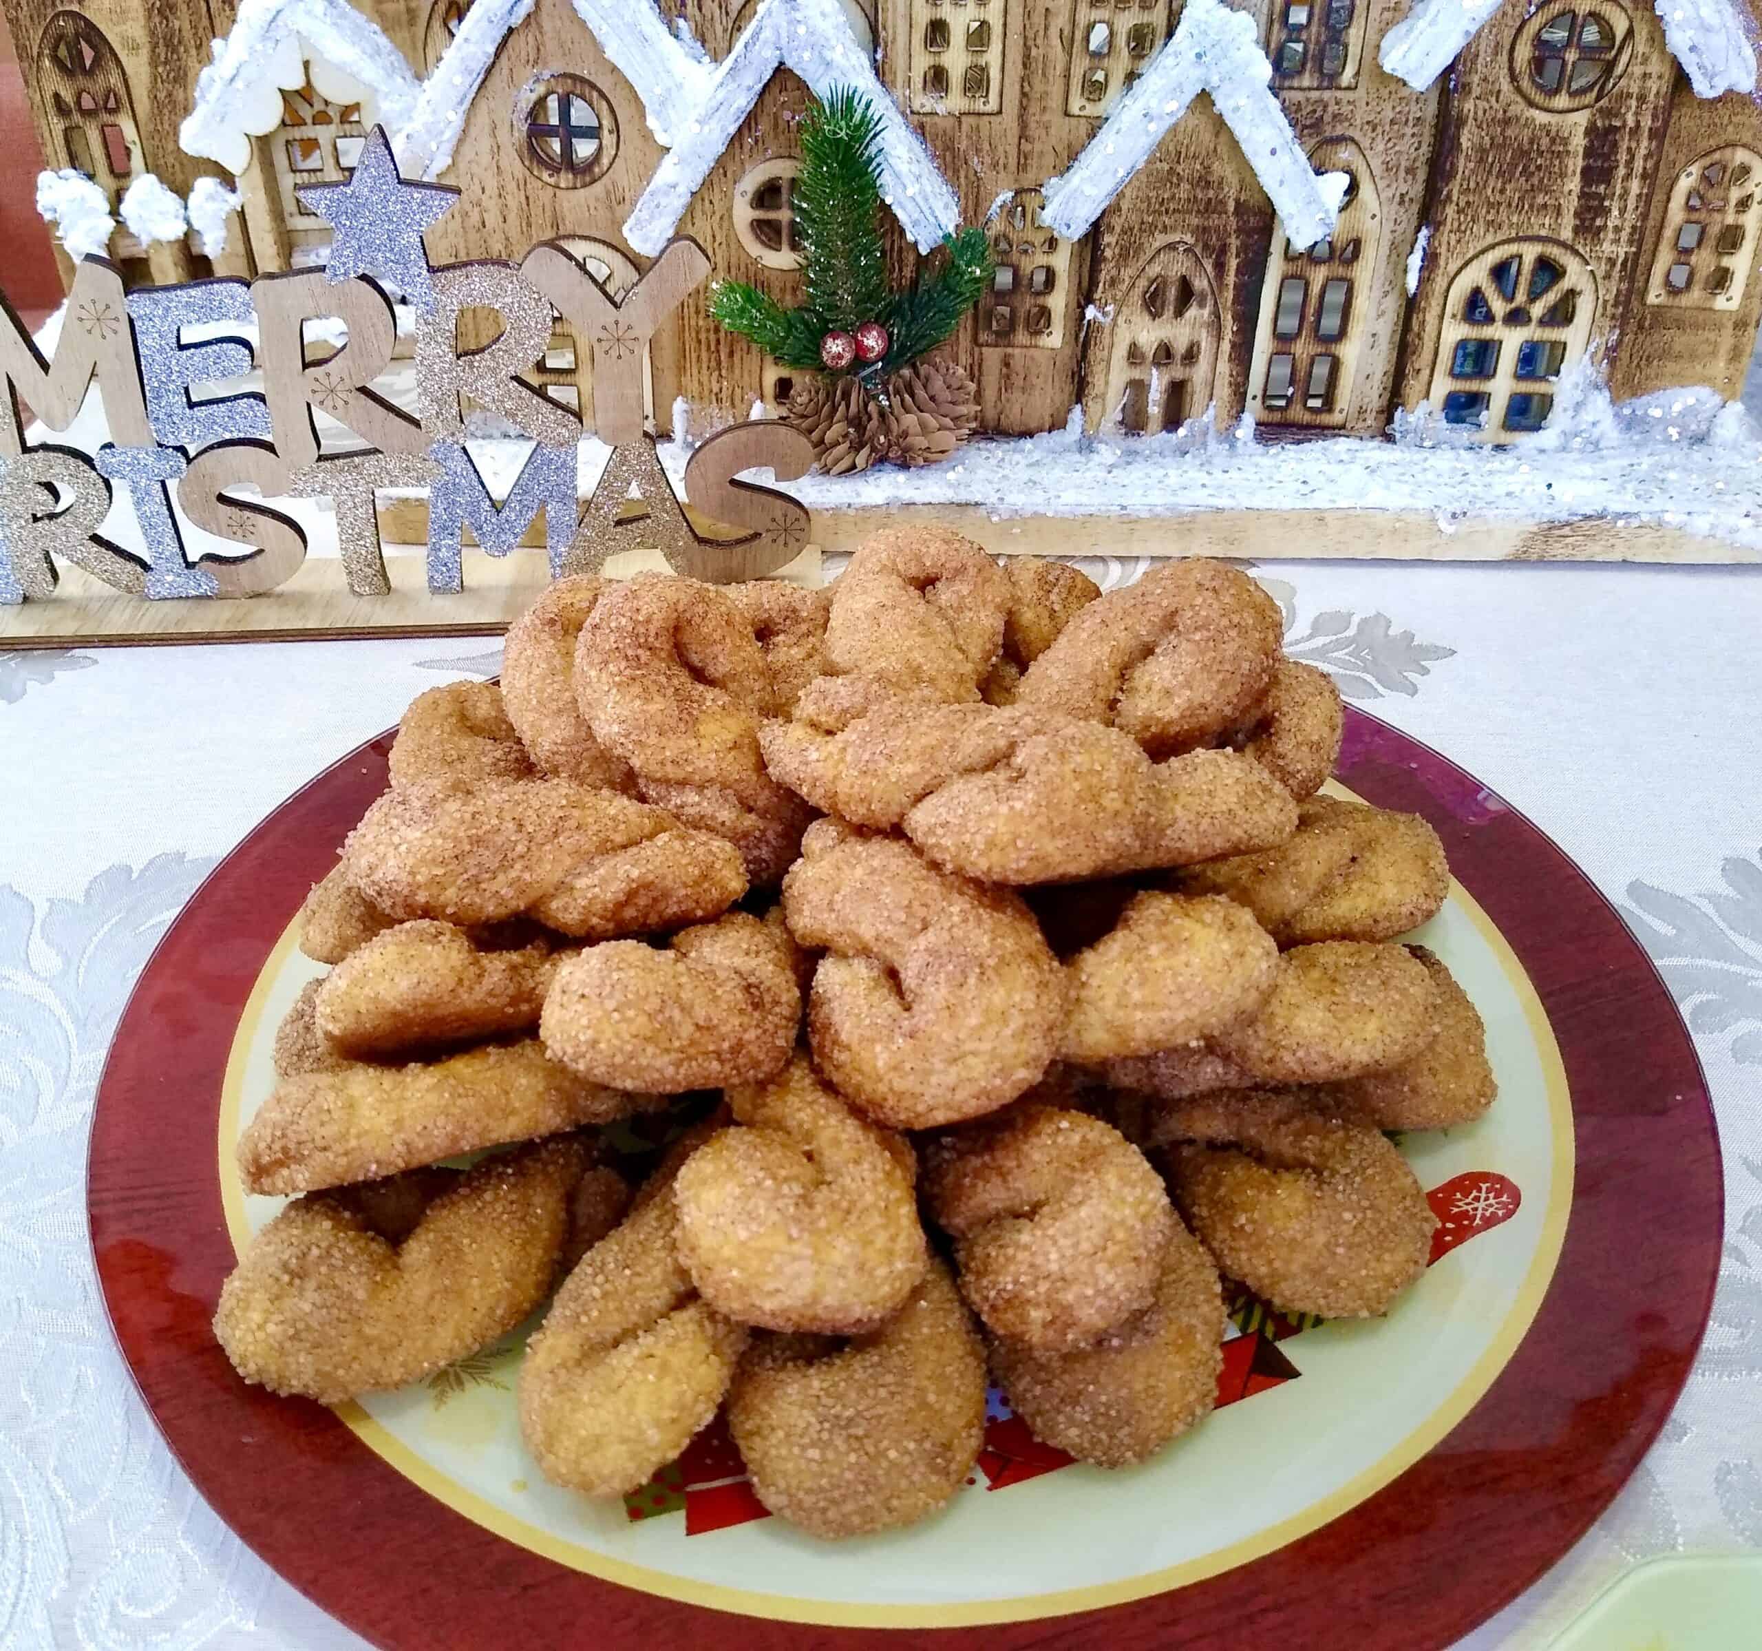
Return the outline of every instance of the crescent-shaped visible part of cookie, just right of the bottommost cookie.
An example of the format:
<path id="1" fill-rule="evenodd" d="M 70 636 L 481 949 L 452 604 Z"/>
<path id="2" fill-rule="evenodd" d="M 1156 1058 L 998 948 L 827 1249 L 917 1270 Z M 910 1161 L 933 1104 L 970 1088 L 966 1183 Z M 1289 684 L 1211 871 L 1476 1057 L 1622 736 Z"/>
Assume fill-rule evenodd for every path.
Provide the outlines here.
<path id="1" fill-rule="evenodd" d="M 994 1339 L 992 1378 L 1036 1440 L 1080 1462 L 1128 1468 L 1210 1413 L 1223 1329 L 1218 1269 L 1175 1219 L 1149 1307 L 1071 1353 Z"/>

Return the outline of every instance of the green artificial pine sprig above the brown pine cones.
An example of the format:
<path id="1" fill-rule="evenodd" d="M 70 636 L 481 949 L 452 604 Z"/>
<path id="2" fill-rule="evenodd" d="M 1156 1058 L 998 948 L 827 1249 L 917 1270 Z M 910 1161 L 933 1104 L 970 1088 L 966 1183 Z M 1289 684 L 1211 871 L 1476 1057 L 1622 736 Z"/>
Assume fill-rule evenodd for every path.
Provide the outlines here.
<path id="1" fill-rule="evenodd" d="M 828 333 L 865 321 L 886 328 L 879 363 L 851 372 L 876 381 L 929 354 L 960 324 L 992 280 L 990 240 L 960 229 L 944 240 L 948 261 L 902 292 L 888 289 L 881 240 L 881 116 L 848 86 L 816 99 L 802 118 L 802 173 L 795 183 L 795 227 L 802 243 L 807 301 L 786 308 L 744 280 L 717 282 L 710 314 L 756 344 L 781 366 L 821 368 Z"/>

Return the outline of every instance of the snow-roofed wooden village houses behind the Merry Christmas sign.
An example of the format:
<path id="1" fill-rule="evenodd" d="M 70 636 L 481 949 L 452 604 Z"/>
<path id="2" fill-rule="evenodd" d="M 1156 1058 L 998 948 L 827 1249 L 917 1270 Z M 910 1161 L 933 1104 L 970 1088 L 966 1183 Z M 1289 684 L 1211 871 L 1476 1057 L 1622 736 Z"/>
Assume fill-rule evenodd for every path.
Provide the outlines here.
<path id="1" fill-rule="evenodd" d="M 1121 490 L 1084 483 L 1071 513 L 1181 513 L 1198 506 L 1135 441 L 1170 476 L 1184 458 L 1209 476 L 1244 444 L 1394 428 L 1394 446 L 1445 449 L 1455 469 L 1406 497 L 1406 470 L 1385 486 L 1380 460 L 1339 458 L 1390 442 L 1311 444 L 1307 469 L 1279 458 L 1237 476 L 1239 506 L 1302 495 L 1316 509 L 1290 530 L 1346 504 L 1448 532 L 1457 506 L 1440 488 L 1491 476 L 1464 469 L 1464 449 L 1605 442 L 1566 418 L 1586 384 L 1605 409 L 1663 419 L 1670 441 L 1679 423 L 1707 437 L 1762 319 L 1757 0 L 0 4 L 69 284 L 92 255 L 130 289 L 315 271 L 333 227 L 308 190 L 349 180 L 384 127 L 405 178 L 458 190 L 426 231 L 437 270 L 552 243 L 617 298 L 689 238 L 712 285 L 788 303 L 802 292 L 800 120 L 812 97 L 860 93 L 881 115 L 895 278 L 946 259 L 962 224 L 988 238 L 994 273 L 939 370 L 971 381 L 969 423 L 1041 444 L 1020 444 L 1024 463 L 1010 442 L 957 449 L 943 469 L 973 481 L 988 465 L 988 493 L 851 478 L 870 516 L 967 497 L 996 518 L 1020 509 L 1003 495 L 1024 483 L 1057 513 L 1045 470 L 1091 439 L 1112 448 L 1084 462 L 1114 467 Z M 456 324 L 460 349 L 495 335 L 469 303 Z M 596 352 L 562 310 L 523 377 L 594 430 Z M 719 326 L 700 292 L 648 338 L 641 418 L 650 435 L 700 441 L 754 411 L 788 416 L 811 377 Z M 1313 490 L 1323 465 L 1332 490 Z M 1699 476 L 1647 472 L 1633 497 L 1649 502 L 1618 486 L 1600 506 L 1573 506 L 1573 485 L 1514 481 L 1510 515 L 1529 523 L 1501 548 L 1464 534 L 1454 553 L 1683 555 L 1589 544 L 1577 529 L 1602 509 L 1618 529 L 1644 518 L 1723 539 L 1706 559 L 1753 559 L 1762 509 L 1727 506 L 1755 500 L 1757 470 L 1744 449 L 1720 470 L 1732 495 L 1681 522 L 1669 488 L 1711 499 Z M 839 481 L 814 478 L 809 502 L 835 504 Z M 1212 479 L 1200 492 L 1218 504 Z M 1577 537 L 1538 548 L 1536 523 Z M 1290 548 L 1390 553 L 1318 550 L 1330 532 L 1320 522 L 1314 544 Z M 1050 548 L 1029 539 L 997 548 Z M 1161 548 L 1142 534 L 1105 548 L 1128 544 Z"/>

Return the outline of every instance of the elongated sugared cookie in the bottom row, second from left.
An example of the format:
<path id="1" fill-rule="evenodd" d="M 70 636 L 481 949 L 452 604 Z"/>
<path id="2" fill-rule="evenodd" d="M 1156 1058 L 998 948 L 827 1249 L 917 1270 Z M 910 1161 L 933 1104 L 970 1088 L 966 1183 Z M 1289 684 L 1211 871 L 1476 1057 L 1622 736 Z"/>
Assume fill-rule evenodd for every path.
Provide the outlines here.
<path id="1" fill-rule="evenodd" d="M 715 1415 L 747 1330 L 700 1300 L 675 1242 L 671 1175 L 564 1279 L 520 1367 L 520 1433 L 544 1477 L 634 1491 Z"/>

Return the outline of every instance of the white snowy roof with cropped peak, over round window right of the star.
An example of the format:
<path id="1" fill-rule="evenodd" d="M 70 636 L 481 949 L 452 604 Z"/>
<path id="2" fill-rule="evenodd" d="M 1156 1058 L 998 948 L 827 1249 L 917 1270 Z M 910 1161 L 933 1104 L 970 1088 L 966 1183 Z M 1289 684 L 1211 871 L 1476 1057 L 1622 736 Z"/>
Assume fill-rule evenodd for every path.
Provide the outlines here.
<path id="1" fill-rule="evenodd" d="M 405 176 L 439 178 L 453 164 L 465 116 L 509 30 L 532 16 L 536 0 L 478 0 L 465 12 L 421 99 L 393 144 Z M 655 141 L 671 134 L 698 106 L 710 79 L 703 48 L 689 33 L 677 37 L 650 0 L 571 0 L 636 95 Z"/>

